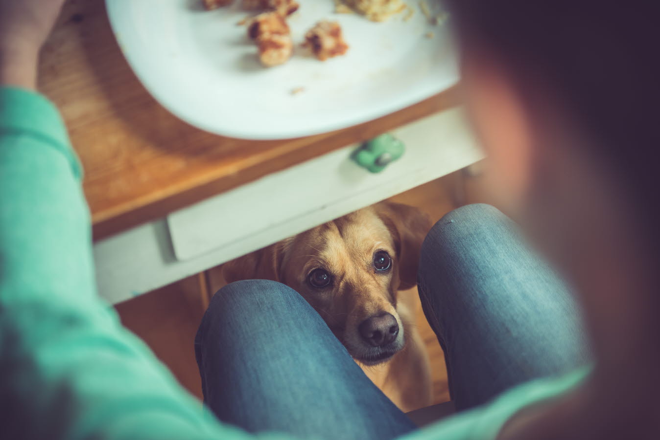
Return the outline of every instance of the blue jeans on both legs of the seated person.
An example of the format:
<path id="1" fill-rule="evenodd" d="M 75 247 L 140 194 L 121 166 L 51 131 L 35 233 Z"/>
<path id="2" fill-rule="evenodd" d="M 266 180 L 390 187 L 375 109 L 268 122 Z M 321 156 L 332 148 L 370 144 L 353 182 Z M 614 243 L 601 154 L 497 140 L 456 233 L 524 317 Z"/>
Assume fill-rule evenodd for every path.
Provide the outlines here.
<path id="1" fill-rule="evenodd" d="M 568 290 L 493 207 L 461 207 L 436 223 L 422 247 L 419 287 L 459 410 L 587 358 Z M 415 429 L 319 314 L 280 283 L 220 289 L 195 354 L 206 404 L 248 431 L 391 439 Z"/>

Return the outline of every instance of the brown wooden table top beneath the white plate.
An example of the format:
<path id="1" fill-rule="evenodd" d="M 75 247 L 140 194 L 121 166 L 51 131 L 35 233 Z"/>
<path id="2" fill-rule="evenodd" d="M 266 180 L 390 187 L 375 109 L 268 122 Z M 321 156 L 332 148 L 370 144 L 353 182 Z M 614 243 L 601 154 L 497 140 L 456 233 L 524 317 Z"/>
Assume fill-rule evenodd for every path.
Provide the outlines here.
<path id="1" fill-rule="evenodd" d="M 451 88 L 368 123 L 291 140 L 210 134 L 174 117 L 137 80 L 103 0 L 67 1 L 42 53 L 39 87 L 84 166 L 95 240 L 459 102 Z"/>

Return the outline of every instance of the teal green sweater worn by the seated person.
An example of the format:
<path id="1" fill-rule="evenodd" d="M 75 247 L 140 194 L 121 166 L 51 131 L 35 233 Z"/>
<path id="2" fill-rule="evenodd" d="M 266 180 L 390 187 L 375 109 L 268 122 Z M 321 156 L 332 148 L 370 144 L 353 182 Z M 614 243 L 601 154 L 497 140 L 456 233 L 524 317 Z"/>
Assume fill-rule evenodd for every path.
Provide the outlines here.
<path id="1" fill-rule="evenodd" d="M 251 437 L 203 410 L 98 298 L 81 174 L 55 107 L 0 89 L 0 437 Z M 583 375 L 527 383 L 410 437 L 494 438 Z"/>

